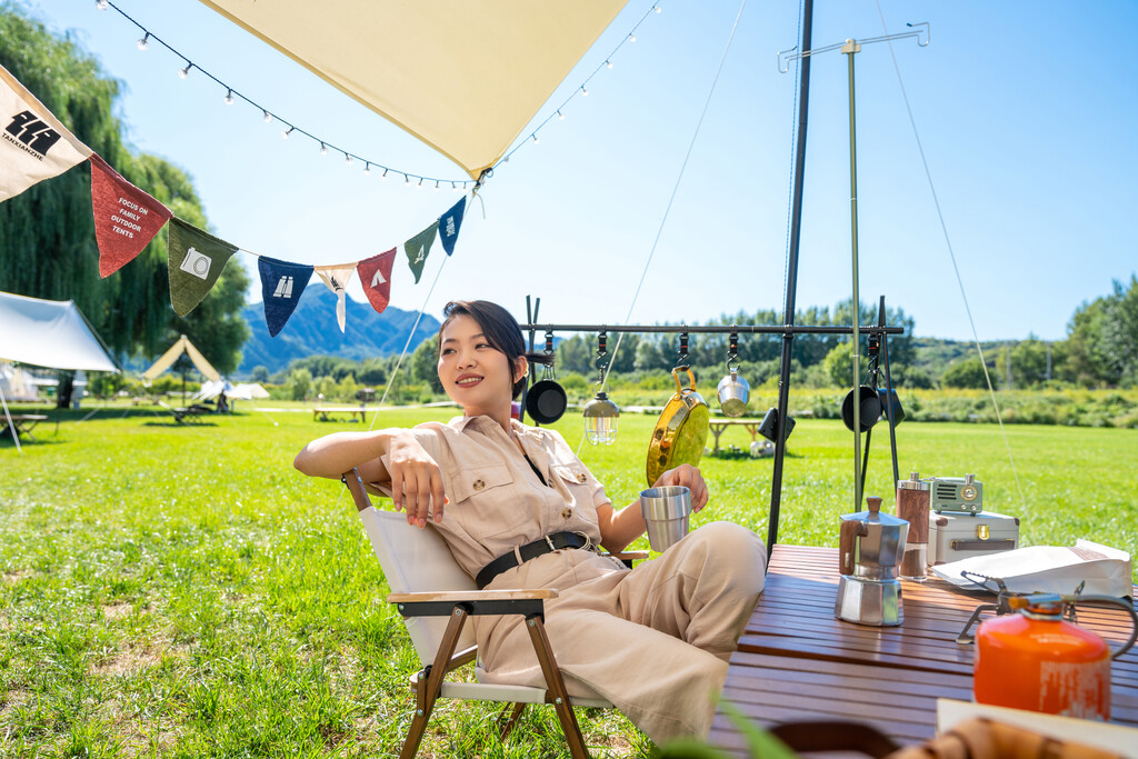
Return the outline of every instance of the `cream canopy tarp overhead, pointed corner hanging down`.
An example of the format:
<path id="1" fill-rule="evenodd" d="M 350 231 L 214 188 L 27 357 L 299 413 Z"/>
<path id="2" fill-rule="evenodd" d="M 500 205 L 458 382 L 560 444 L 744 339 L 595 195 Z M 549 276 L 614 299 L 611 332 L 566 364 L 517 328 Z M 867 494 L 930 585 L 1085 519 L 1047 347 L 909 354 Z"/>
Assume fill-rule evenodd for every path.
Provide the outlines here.
<path id="1" fill-rule="evenodd" d="M 627 0 L 201 2 L 478 179 Z"/>

